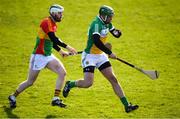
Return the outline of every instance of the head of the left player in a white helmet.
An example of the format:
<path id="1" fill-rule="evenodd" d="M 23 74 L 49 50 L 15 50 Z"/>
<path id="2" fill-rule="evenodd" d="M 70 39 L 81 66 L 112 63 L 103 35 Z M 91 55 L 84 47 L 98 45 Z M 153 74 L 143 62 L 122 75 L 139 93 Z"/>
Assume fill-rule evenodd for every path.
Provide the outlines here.
<path id="1" fill-rule="evenodd" d="M 49 14 L 53 21 L 60 22 L 62 20 L 62 13 L 64 11 L 64 7 L 54 4 L 49 8 Z"/>

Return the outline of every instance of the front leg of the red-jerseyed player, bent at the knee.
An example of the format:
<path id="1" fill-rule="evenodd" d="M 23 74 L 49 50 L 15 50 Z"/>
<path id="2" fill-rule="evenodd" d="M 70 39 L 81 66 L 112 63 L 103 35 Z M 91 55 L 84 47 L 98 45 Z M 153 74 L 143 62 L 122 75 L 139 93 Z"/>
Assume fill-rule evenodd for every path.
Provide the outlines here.
<path id="1" fill-rule="evenodd" d="M 46 67 L 58 75 L 57 80 L 56 80 L 56 85 L 55 85 L 54 97 L 52 99 L 52 105 L 65 107 L 66 105 L 63 104 L 62 100 L 59 98 L 59 94 L 63 87 L 65 76 L 66 76 L 65 67 L 62 64 L 62 62 L 60 62 L 56 58 L 54 58 L 52 61 L 50 61 Z"/>

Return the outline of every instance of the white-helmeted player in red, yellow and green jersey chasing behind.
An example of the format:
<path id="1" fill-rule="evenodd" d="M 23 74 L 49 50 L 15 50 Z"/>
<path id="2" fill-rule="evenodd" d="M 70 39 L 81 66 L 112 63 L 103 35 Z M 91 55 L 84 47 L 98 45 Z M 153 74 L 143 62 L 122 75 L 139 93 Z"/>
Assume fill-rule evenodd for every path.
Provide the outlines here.
<path id="1" fill-rule="evenodd" d="M 64 84 L 66 70 L 62 62 L 52 54 L 52 49 L 54 48 L 58 51 L 62 57 L 68 56 L 69 53 L 63 51 L 60 47 L 66 48 L 71 54 L 76 54 L 77 52 L 55 35 L 57 30 L 56 22 L 62 20 L 63 11 L 64 8 L 62 6 L 57 4 L 52 5 L 49 9 L 50 16 L 42 20 L 36 38 L 36 44 L 31 55 L 27 80 L 22 82 L 16 91 L 8 97 L 11 108 L 16 107 L 16 97 L 29 86 L 33 85 L 39 72 L 45 67 L 58 75 L 51 104 L 59 107 L 66 106 L 59 98 L 60 90 Z"/>

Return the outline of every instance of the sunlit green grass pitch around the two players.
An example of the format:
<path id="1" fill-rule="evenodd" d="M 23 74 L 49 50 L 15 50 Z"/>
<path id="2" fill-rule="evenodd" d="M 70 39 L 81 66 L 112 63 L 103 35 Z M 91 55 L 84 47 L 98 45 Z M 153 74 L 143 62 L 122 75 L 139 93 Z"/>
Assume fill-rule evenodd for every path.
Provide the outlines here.
<path id="1" fill-rule="evenodd" d="M 9 109 L 7 97 L 26 79 L 29 57 L 40 20 L 53 3 L 65 7 L 57 35 L 77 50 L 86 43 L 91 20 L 100 5 L 114 8 L 113 24 L 122 30 L 120 39 L 109 35 L 113 51 L 144 69 L 157 69 L 152 81 L 140 72 L 111 60 L 114 72 L 129 101 L 140 108 L 126 114 L 111 85 L 95 72 L 94 85 L 74 89 L 67 109 L 50 105 L 56 75 L 47 69 L 33 87 L 17 98 L 18 107 Z M 0 117 L 1 118 L 179 118 L 180 117 L 180 2 L 177 0 L 1 0 L 0 1 Z M 80 55 L 61 58 L 67 80 L 83 76 Z"/>

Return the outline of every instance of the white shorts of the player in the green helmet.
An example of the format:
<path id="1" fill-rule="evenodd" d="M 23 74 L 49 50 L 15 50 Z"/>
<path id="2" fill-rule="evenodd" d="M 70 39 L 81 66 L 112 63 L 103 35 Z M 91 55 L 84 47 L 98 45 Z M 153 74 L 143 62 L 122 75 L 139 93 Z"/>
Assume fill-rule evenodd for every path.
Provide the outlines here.
<path id="1" fill-rule="evenodd" d="M 108 62 L 108 56 L 105 53 L 102 54 L 87 54 L 86 52 L 82 53 L 82 67 L 95 66 L 99 68 L 105 62 Z"/>

